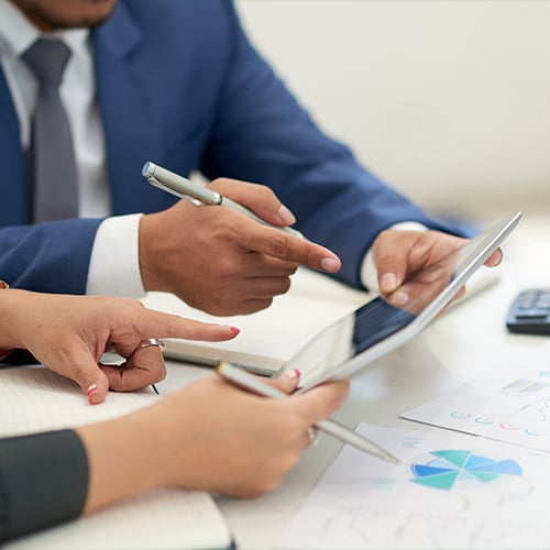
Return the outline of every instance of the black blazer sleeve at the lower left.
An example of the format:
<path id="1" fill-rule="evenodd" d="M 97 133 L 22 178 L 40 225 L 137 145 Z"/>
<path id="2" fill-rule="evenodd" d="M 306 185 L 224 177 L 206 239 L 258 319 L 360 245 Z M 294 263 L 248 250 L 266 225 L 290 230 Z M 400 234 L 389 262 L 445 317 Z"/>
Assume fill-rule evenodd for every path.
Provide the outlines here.
<path id="1" fill-rule="evenodd" d="M 75 431 L 0 439 L 0 540 L 80 515 L 88 460 Z"/>

